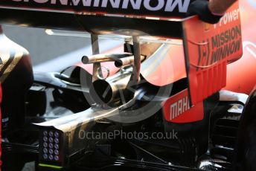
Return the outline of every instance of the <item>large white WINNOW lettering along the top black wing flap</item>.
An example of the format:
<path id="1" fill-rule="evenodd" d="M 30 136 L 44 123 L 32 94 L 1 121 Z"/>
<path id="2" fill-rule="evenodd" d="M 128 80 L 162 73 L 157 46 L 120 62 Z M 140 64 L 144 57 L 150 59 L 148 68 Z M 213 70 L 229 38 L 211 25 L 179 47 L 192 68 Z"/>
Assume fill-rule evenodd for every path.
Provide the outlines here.
<path id="1" fill-rule="evenodd" d="M 8 0 L 10 1 L 10 0 Z M 48 7 L 96 7 L 116 10 L 147 10 L 186 13 L 191 0 L 12 0 L 22 4 L 48 4 Z M 0 3 L 1 4 L 1 3 Z"/>

